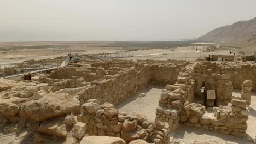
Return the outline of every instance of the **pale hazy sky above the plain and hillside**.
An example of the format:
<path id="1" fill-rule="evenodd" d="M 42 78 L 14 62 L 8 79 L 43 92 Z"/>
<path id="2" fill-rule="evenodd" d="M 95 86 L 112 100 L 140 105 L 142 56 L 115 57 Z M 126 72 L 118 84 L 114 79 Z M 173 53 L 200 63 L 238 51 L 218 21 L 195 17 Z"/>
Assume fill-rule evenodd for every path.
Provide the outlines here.
<path id="1" fill-rule="evenodd" d="M 197 38 L 256 17 L 255 0 L 0 0 L 0 41 Z"/>

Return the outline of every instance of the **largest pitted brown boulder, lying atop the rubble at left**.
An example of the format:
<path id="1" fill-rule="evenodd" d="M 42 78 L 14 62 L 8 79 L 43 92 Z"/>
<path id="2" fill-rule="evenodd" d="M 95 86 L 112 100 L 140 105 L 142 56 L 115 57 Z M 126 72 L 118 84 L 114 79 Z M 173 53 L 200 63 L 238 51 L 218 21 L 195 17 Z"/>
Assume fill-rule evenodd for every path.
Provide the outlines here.
<path id="1" fill-rule="evenodd" d="M 45 97 L 28 101 L 21 106 L 20 115 L 27 119 L 44 121 L 45 119 L 78 111 L 80 101 L 68 94 L 48 94 Z"/>

